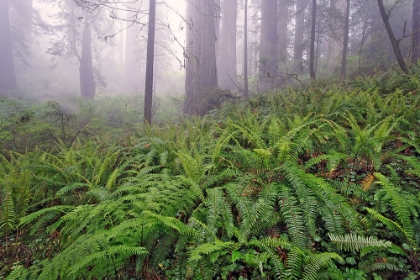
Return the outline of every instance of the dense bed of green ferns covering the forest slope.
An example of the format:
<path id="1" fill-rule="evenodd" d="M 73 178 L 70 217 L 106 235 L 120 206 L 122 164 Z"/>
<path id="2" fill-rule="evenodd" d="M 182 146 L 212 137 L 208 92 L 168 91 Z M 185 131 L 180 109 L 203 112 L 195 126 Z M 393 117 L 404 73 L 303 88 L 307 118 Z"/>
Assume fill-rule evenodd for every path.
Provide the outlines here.
<path id="1" fill-rule="evenodd" d="M 0 277 L 420 277 L 420 97 L 366 80 L 2 157 Z"/>

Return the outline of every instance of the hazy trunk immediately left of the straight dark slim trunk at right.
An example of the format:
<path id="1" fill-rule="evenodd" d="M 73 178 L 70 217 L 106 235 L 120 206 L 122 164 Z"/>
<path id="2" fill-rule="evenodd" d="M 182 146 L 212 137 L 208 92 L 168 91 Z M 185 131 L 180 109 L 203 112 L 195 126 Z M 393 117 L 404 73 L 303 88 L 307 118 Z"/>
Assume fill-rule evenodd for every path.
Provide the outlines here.
<path id="1" fill-rule="evenodd" d="M 305 9 L 306 0 L 297 0 L 293 60 L 295 63 L 295 71 L 298 74 L 303 73 L 303 35 L 305 30 Z"/>

